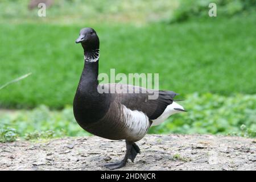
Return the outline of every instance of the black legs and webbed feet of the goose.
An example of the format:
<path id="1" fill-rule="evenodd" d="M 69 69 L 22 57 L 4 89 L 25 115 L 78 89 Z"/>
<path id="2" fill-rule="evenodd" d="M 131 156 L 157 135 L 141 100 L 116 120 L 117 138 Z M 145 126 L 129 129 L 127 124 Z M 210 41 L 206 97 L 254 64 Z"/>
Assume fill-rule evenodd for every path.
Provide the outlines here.
<path id="1" fill-rule="evenodd" d="M 131 159 L 131 161 L 134 162 L 136 155 L 140 152 L 139 147 L 134 142 L 129 142 L 125 140 L 125 143 L 126 143 L 126 153 L 123 160 L 121 160 L 121 162 L 118 162 L 118 163 L 106 164 L 104 167 L 113 170 L 113 169 L 118 169 L 125 166 L 128 159 Z"/>

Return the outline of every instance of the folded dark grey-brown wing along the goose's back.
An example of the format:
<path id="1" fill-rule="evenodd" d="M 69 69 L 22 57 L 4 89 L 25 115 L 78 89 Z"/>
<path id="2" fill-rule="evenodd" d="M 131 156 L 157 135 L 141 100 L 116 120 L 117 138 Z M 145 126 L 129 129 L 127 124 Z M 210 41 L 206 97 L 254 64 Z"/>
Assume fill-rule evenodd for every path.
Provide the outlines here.
<path id="1" fill-rule="evenodd" d="M 130 110 L 142 111 L 151 120 L 158 118 L 166 107 L 172 104 L 177 95 L 172 91 L 151 90 L 125 84 L 102 84 L 100 87 L 105 91 L 108 90 L 113 100 L 120 102 Z M 149 96 L 153 94 L 158 97 L 149 99 Z"/>

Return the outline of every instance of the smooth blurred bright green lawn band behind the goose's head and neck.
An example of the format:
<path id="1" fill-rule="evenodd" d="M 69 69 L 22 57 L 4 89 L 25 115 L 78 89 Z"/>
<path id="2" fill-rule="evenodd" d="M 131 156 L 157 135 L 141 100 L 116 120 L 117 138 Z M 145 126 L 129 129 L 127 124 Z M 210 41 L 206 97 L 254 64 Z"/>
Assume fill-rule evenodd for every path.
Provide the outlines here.
<path id="1" fill-rule="evenodd" d="M 186 94 L 255 94 L 256 15 L 208 18 L 180 24 L 7 24 L 0 29 L 0 107 L 71 105 L 83 67 L 81 27 L 101 40 L 100 72 L 159 73 L 160 89 Z"/>

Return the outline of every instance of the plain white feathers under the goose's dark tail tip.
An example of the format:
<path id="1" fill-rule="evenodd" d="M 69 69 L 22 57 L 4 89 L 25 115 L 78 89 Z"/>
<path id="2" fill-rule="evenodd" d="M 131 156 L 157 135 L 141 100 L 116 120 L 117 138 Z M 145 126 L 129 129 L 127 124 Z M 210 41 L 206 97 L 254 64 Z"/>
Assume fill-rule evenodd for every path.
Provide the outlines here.
<path id="1" fill-rule="evenodd" d="M 152 120 L 153 123 L 151 126 L 160 125 L 160 123 L 164 122 L 168 117 L 170 117 L 170 115 L 182 112 L 179 110 L 175 110 L 174 108 L 184 109 L 183 106 L 177 104 L 176 102 L 172 102 L 172 104 L 168 105 L 164 112 L 158 118 Z"/>

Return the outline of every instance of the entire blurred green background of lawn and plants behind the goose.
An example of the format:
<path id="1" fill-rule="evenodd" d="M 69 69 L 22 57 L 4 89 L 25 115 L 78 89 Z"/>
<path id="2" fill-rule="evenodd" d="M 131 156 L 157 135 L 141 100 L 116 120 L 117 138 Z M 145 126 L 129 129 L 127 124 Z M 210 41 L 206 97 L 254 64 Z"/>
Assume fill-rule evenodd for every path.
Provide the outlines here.
<path id="1" fill-rule="evenodd" d="M 159 73 L 186 99 L 150 133 L 255 137 L 256 0 L 48 0 L 46 17 L 38 2 L 0 1 L 0 85 L 32 73 L 0 90 L 0 141 L 88 135 L 72 111 L 82 27 L 100 37 L 100 72 Z"/>

